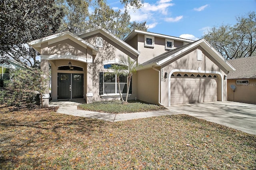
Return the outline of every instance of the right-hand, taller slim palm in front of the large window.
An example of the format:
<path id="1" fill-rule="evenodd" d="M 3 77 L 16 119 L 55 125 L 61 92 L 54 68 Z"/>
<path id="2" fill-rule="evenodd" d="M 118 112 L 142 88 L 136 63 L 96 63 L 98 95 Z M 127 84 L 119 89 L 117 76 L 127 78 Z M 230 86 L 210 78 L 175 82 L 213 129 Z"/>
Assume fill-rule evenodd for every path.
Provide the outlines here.
<path id="1" fill-rule="evenodd" d="M 131 79 L 132 79 L 132 73 L 136 73 L 136 67 L 138 67 L 138 63 L 137 63 L 137 60 L 133 60 L 129 56 L 124 57 L 124 55 L 120 55 L 120 61 L 121 61 L 122 65 L 124 65 L 124 69 L 126 70 L 125 73 L 126 73 L 127 78 L 128 78 L 127 95 L 126 95 L 126 99 L 125 99 L 125 102 L 127 103 L 128 93 L 129 93 L 129 90 L 130 90 L 130 83 L 131 83 Z"/>

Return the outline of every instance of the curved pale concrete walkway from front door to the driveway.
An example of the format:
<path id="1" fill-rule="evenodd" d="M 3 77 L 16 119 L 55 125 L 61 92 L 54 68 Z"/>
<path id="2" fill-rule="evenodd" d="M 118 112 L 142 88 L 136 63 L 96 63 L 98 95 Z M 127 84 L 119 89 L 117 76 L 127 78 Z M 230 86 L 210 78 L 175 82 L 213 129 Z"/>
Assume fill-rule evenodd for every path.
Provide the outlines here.
<path id="1" fill-rule="evenodd" d="M 174 111 L 152 111 L 152 112 L 139 112 L 139 113 L 123 113 L 123 114 L 112 114 L 112 113 L 100 113 L 92 111 L 78 110 L 77 106 L 85 103 L 84 100 L 71 100 L 71 101 L 51 101 L 50 106 L 58 106 L 57 113 L 63 113 L 66 115 L 87 117 L 91 119 L 100 119 L 103 121 L 117 122 L 126 121 L 132 119 L 140 119 L 147 117 L 156 117 L 163 115 L 174 115 Z"/>

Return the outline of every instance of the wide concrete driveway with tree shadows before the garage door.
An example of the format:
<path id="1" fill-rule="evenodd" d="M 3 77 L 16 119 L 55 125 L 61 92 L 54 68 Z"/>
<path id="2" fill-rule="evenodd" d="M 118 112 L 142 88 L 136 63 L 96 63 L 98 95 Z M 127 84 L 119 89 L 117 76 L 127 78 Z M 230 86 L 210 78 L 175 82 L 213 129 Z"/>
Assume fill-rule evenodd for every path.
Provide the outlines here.
<path id="1" fill-rule="evenodd" d="M 173 105 L 170 111 L 184 113 L 249 134 L 256 134 L 256 105 L 231 101 Z"/>

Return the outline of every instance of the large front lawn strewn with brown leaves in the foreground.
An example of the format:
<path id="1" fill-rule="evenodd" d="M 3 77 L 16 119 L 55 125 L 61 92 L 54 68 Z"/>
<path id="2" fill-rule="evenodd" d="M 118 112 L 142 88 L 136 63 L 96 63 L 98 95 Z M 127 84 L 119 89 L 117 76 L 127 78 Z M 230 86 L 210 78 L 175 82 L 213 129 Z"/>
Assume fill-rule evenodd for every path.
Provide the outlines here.
<path id="1" fill-rule="evenodd" d="M 252 170 L 255 160 L 255 135 L 188 115 L 105 122 L 0 108 L 1 170 Z"/>

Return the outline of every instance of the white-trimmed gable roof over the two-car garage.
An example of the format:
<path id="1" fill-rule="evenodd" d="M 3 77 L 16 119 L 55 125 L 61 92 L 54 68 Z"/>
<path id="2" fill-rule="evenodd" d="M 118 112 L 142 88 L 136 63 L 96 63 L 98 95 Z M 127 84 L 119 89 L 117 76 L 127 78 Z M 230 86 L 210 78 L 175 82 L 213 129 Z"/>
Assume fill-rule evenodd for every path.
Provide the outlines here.
<path id="1" fill-rule="evenodd" d="M 154 58 L 142 63 L 142 67 L 140 67 L 138 69 L 145 69 L 145 68 L 152 67 L 152 66 L 164 65 L 165 63 L 168 63 L 170 60 L 179 57 L 180 55 L 186 53 L 190 49 L 192 49 L 194 47 L 197 47 L 199 45 L 202 48 L 204 48 L 214 59 L 216 59 L 216 61 L 218 63 L 220 63 L 227 71 L 234 71 L 235 70 L 234 67 L 232 67 L 232 65 L 230 65 L 226 61 L 226 59 L 224 59 L 222 57 L 222 55 L 220 55 L 220 53 L 218 53 L 218 51 L 216 51 L 216 49 L 214 49 L 204 39 L 198 40 L 198 41 L 193 42 L 193 43 L 189 43 L 187 45 L 183 45 L 181 47 L 178 47 L 176 49 L 173 49 L 173 50 L 167 51 L 167 52 L 165 52 L 161 55 L 158 55 L 157 57 L 154 57 Z"/>

